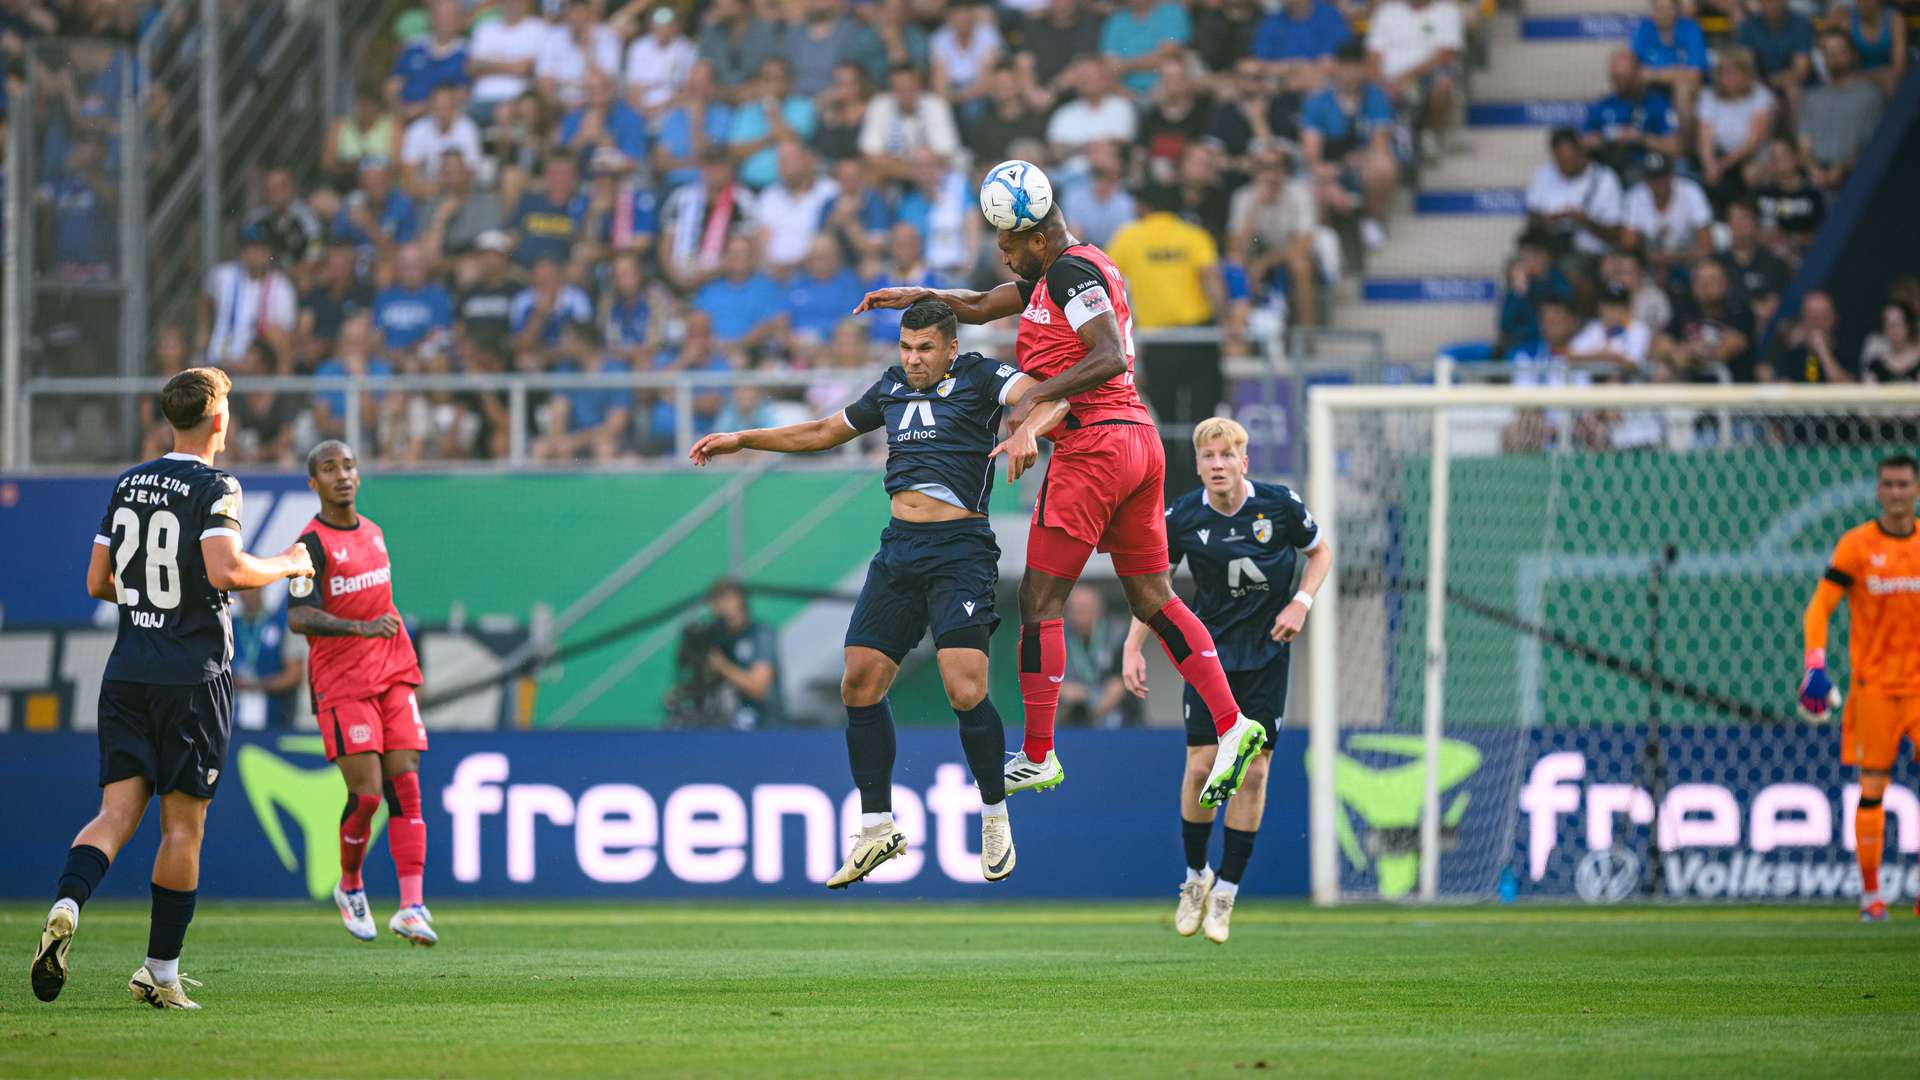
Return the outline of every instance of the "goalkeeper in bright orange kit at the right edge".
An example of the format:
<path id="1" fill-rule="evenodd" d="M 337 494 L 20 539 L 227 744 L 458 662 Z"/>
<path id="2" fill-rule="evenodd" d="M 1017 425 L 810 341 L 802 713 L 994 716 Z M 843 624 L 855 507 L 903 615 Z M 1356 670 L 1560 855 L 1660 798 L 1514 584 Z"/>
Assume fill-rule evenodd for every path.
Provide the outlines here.
<path id="1" fill-rule="evenodd" d="M 1824 715 L 1834 701 L 1826 675 L 1826 625 L 1847 600 L 1847 703 L 1839 761 L 1860 771 L 1860 807 L 1853 817 L 1860 859 L 1860 922 L 1882 922 L 1880 849 L 1887 794 L 1901 738 L 1920 757 L 1920 540 L 1914 538 L 1914 492 L 1920 463 L 1895 454 L 1880 463 L 1880 519 L 1849 528 L 1834 546 L 1826 578 L 1807 605 L 1807 675 L 1801 705 Z M 1914 905 L 1920 915 L 1920 903 Z"/>

